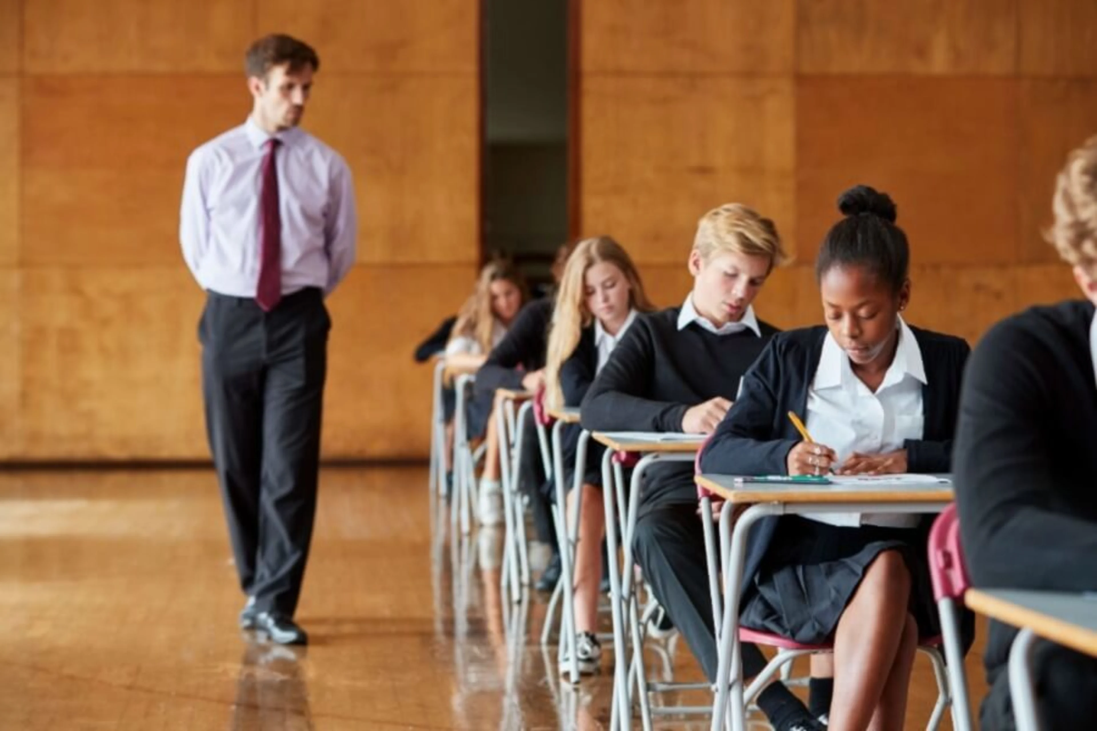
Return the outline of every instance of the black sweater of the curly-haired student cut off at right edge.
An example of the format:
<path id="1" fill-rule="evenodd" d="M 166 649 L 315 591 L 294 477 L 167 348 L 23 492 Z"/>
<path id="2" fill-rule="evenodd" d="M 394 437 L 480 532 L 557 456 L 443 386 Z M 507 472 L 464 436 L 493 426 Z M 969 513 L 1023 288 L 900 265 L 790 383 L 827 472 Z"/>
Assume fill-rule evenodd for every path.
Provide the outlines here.
<path id="1" fill-rule="evenodd" d="M 1067 301 L 991 329 L 964 377 L 957 507 L 977 586 L 1097 591 L 1094 306 Z M 1016 630 L 992 623 L 988 679 Z"/>

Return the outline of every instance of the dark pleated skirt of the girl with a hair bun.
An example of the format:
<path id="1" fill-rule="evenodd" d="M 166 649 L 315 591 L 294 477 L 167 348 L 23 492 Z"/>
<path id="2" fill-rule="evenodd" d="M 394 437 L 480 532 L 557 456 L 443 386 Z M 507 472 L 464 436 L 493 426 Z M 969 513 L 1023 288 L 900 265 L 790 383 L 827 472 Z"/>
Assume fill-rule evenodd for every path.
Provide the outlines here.
<path id="1" fill-rule="evenodd" d="M 839 527 L 795 515 L 778 523 L 766 558 L 743 597 L 740 625 L 803 644 L 833 641 L 861 578 L 885 550 L 897 550 L 911 571 L 909 609 L 918 623 L 918 636 L 937 635 L 940 623 L 924 532 Z"/>

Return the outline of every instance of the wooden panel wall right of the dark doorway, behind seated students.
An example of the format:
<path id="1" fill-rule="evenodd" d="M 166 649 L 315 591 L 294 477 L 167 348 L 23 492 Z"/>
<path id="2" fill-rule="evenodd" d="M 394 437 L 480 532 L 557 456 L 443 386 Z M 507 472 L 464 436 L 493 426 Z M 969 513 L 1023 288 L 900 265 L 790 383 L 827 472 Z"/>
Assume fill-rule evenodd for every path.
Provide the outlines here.
<path id="1" fill-rule="evenodd" d="M 580 2 L 577 228 L 608 232 L 664 305 L 689 288 L 697 219 L 777 222 L 792 266 L 759 296 L 821 320 L 813 259 L 835 201 L 891 193 L 913 247 L 912 321 L 976 340 L 1074 296 L 1040 238 L 1053 173 L 1097 134 L 1092 0 Z"/>

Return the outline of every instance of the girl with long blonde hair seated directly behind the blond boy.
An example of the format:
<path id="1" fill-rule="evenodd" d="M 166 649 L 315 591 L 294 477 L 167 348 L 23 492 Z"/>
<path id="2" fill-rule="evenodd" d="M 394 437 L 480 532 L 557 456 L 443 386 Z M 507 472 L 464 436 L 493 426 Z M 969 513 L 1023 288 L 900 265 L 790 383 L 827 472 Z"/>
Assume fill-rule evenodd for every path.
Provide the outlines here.
<path id="1" fill-rule="evenodd" d="M 609 359 L 636 316 L 648 312 L 652 304 L 644 293 L 640 273 L 629 252 L 610 237 L 580 241 L 567 260 L 561 277 L 548 333 L 545 364 L 545 398 L 551 407 L 577 407 L 595 375 Z M 575 467 L 579 429 L 573 426 L 564 438 L 564 465 Z M 598 616 L 598 586 L 601 578 L 601 541 L 604 535 L 602 507 L 601 450 L 590 448 L 585 468 L 578 542 L 575 557 L 576 659 L 579 671 L 593 673 L 601 649 L 595 635 Z M 566 484 L 572 478 L 565 477 Z M 576 510 L 576 495 L 568 495 L 568 511 Z M 561 661 L 567 672 L 569 659 Z"/>

